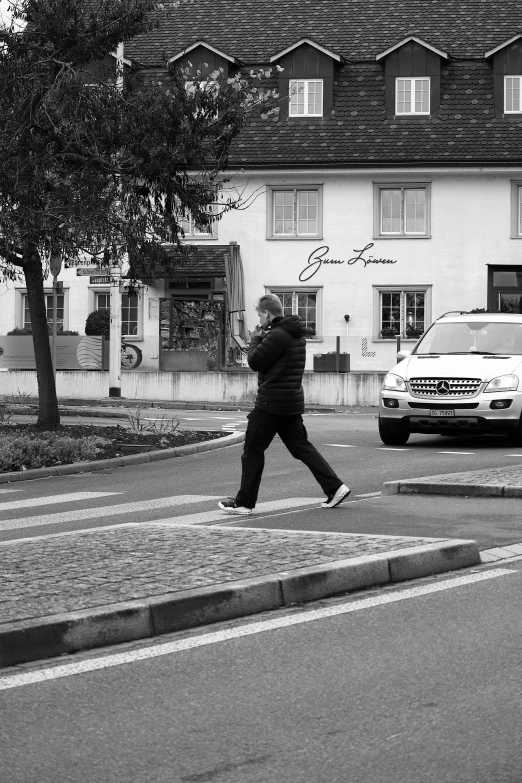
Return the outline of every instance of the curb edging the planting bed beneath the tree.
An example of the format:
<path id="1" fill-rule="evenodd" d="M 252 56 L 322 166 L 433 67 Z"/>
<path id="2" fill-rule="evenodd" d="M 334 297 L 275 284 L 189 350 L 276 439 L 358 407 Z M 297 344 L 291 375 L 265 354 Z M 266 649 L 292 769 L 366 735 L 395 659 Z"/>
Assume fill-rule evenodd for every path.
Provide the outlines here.
<path id="1" fill-rule="evenodd" d="M 56 465 L 51 468 L 34 468 L 33 470 L 21 470 L 16 473 L 0 473 L 0 484 L 12 481 L 29 481 L 35 478 L 48 478 L 49 476 L 66 476 L 72 473 L 91 473 L 94 470 L 107 470 L 107 468 L 122 468 L 125 465 L 141 465 L 145 462 L 158 462 L 174 457 L 186 457 L 189 454 L 199 454 L 202 451 L 214 451 L 226 446 L 234 446 L 245 440 L 244 432 L 233 432 L 222 438 L 205 440 L 201 443 L 190 443 L 186 446 L 174 446 L 171 449 L 158 451 L 146 451 L 143 454 L 130 454 L 127 457 L 111 457 L 94 462 L 71 462 L 69 465 Z"/>

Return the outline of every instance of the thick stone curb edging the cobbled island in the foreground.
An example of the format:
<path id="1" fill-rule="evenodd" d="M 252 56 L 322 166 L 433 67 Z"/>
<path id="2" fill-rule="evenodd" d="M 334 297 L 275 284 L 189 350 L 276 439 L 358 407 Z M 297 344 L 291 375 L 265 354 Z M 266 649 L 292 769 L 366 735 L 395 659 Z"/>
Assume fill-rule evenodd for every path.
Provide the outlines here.
<path id="1" fill-rule="evenodd" d="M 0 629 L 0 668 L 282 609 L 480 564 L 475 541 L 450 539 L 263 577 L 101 606 Z"/>

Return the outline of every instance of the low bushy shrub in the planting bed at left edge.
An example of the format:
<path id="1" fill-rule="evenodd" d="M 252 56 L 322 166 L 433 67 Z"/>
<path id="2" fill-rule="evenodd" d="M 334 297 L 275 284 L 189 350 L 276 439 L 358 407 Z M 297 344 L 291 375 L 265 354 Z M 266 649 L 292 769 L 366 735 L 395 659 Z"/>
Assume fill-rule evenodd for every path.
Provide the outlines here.
<path id="1" fill-rule="evenodd" d="M 71 438 L 60 432 L 2 434 L 0 472 L 48 467 L 59 463 L 95 459 L 104 438 L 89 435 Z"/>

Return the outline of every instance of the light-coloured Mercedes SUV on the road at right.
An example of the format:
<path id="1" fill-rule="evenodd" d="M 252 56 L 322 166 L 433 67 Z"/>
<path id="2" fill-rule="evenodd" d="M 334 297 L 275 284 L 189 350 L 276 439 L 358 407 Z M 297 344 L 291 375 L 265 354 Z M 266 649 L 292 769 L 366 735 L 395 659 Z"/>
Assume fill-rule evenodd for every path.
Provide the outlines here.
<path id="1" fill-rule="evenodd" d="M 397 358 L 380 394 L 383 443 L 496 432 L 522 445 L 522 315 L 446 313 Z"/>

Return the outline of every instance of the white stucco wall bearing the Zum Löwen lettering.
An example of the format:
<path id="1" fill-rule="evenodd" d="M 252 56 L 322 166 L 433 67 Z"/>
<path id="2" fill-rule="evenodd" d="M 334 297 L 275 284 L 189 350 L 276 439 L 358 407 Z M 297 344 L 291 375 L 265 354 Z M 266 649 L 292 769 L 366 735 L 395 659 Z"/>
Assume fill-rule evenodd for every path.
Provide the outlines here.
<path id="1" fill-rule="evenodd" d="M 487 264 L 522 265 L 522 241 L 510 236 L 512 179 L 521 180 L 522 170 L 506 167 L 496 173 L 405 169 L 251 174 L 248 178 L 234 178 L 239 191 L 245 188 L 245 199 L 252 196 L 251 205 L 224 216 L 218 223 L 216 240 L 198 238 L 197 242 L 223 245 L 235 241 L 240 245 L 250 329 L 256 322 L 253 304 L 267 287 L 319 287 L 321 339 L 309 342 L 307 369 L 312 369 L 314 353 L 335 349 L 339 335 L 341 350 L 351 355 L 352 370 L 382 371 L 395 363 L 396 346 L 394 341 L 376 339 L 375 286 L 430 286 L 429 319 L 448 310 L 485 307 Z M 431 238 L 374 238 L 375 182 L 431 183 Z M 266 238 L 266 186 L 270 184 L 323 185 L 321 238 Z M 349 265 L 348 259 L 369 243 L 373 247 L 366 257 L 372 255 L 396 263 L 365 267 L 357 261 Z M 329 258 L 343 263 L 323 264 L 308 282 L 300 283 L 299 274 L 307 266 L 310 254 L 325 246 L 329 248 Z M 75 269 L 64 270 L 60 279 L 69 297 L 68 328 L 83 333 L 85 319 L 94 307 L 95 287 L 88 277 L 78 277 Z M 49 290 L 50 287 L 51 280 Z M 143 351 L 141 371 L 156 371 L 159 366 L 155 303 L 163 295 L 162 283 L 158 289 L 146 286 L 141 294 L 143 339 L 133 339 Z M 18 297 L 17 301 L 14 292 L 3 284 L 0 301 L 0 334 L 5 334 L 20 325 L 21 300 Z M 350 316 L 348 326 L 345 314 Z M 412 345 L 413 342 L 405 342 L 405 347 Z"/>

